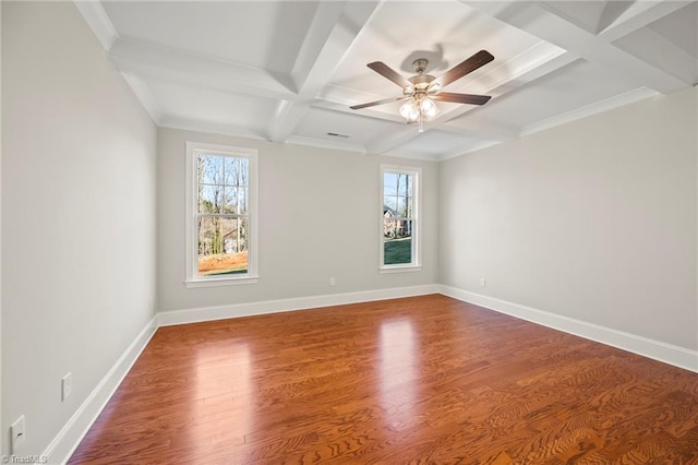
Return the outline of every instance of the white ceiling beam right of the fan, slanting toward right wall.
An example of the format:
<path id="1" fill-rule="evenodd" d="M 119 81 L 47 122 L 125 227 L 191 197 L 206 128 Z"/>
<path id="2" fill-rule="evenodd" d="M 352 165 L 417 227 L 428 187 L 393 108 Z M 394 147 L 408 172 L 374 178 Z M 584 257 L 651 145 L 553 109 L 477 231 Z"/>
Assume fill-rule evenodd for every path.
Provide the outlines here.
<path id="1" fill-rule="evenodd" d="M 461 0 L 514 27 L 540 37 L 588 61 L 624 75 L 638 86 L 663 94 L 685 88 L 689 83 L 621 50 L 601 38 L 558 16 L 537 2 L 471 2 Z"/>

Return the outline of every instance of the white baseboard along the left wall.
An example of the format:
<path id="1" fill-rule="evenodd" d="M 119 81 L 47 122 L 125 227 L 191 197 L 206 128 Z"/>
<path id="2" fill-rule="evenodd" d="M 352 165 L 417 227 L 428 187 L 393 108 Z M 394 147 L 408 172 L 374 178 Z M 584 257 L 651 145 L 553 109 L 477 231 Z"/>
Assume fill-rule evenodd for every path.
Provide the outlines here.
<path id="1" fill-rule="evenodd" d="M 121 381 L 131 370 L 133 363 L 139 358 L 145 346 L 157 330 L 156 317 L 154 317 L 133 339 L 131 345 L 119 357 L 99 384 L 92 391 L 85 402 L 77 408 L 73 416 L 63 426 L 60 432 L 46 448 L 43 456 L 48 458 L 50 464 L 64 464 L 75 452 L 77 445 L 83 440 L 87 431 L 95 422 L 101 410 L 105 408 L 113 393 L 121 384 Z"/>

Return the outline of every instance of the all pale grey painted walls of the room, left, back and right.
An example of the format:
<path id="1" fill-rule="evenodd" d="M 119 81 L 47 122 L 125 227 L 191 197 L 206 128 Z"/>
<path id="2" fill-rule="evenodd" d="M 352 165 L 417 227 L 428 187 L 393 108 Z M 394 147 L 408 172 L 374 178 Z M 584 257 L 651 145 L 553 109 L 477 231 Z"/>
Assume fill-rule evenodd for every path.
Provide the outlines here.
<path id="1" fill-rule="evenodd" d="M 73 3 L 1 9 L 4 453 L 20 415 L 22 454 L 46 449 L 154 295 L 168 311 L 441 282 L 698 349 L 696 90 L 408 162 L 156 130 Z M 260 151 L 256 285 L 184 287 L 186 141 Z M 423 169 L 421 272 L 378 273 L 380 163 Z"/>

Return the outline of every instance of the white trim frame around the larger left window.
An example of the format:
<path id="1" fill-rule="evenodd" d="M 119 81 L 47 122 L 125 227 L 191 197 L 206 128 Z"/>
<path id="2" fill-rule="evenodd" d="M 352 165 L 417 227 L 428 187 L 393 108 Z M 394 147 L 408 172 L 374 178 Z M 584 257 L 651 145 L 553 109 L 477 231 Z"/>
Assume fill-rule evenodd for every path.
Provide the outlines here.
<path id="1" fill-rule="evenodd" d="M 205 151 L 212 154 L 246 157 L 250 160 L 250 231 L 248 234 L 248 273 L 244 275 L 225 276 L 198 276 L 196 266 L 198 254 L 196 245 L 197 231 L 195 231 L 194 212 L 196 211 L 196 184 L 194 172 L 196 170 L 195 154 Z M 258 151 L 245 147 L 232 147 L 228 145 L 206 144 L 201 142 L 186 142 L 186 277 L 184 284 L 188 288 L 231 286 L 240 284 L 255 284 L 258 281 L 260 243 L 258 237 Z"/>

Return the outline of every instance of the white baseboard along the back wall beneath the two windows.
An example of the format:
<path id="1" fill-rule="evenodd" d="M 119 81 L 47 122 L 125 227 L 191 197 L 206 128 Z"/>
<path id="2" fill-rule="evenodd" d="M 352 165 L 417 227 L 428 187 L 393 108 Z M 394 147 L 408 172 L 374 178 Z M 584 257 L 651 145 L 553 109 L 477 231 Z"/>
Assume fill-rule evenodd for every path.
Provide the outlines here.
<path id="1" fill-rule="evenodd" d="M 157 314 L 158 326 L 198 323 L 203 321 L 225 320 L 255 314 L 277 313 L 293 310 L 306 310 L 347 303 L 369 302 L 373 300 L 397 299 L 400 297 L 438 294 L 436 284 L 395 287 L 390 289 L 362 290 L 358 293 L 328 294 L 325 296 L 299 297 L 292 299 L 266 300 L 262 302 L 233 303 L 219 307 L 203 307 L 188 310 L 172 310 Z"/>

